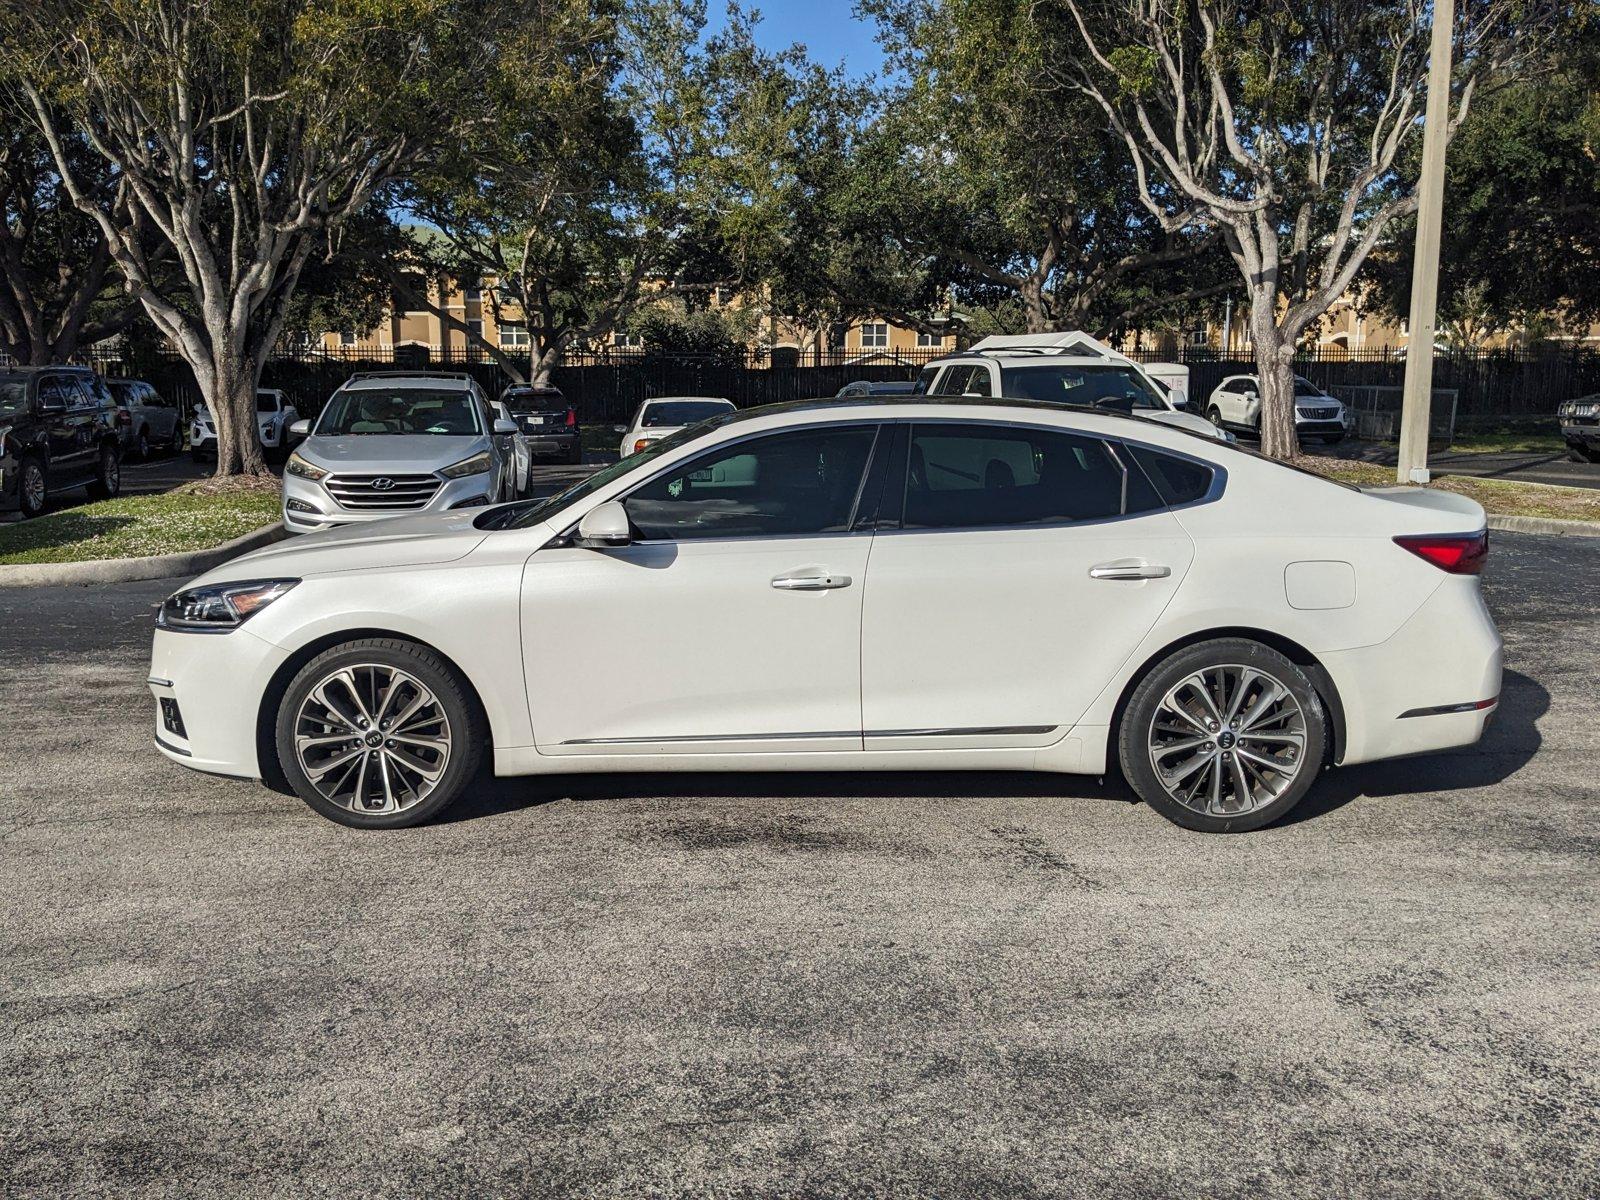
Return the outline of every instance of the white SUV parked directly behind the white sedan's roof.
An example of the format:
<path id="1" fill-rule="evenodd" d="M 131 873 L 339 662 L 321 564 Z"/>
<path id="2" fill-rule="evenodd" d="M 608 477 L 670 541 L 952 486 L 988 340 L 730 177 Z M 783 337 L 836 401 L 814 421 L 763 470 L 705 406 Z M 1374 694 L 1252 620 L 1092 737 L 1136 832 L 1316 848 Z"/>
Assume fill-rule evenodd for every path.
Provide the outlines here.
<path id="1" fill-rule="evenodd" d="M 1168 368 L 1173 378 L 1173 365 Z M 1182 373 L 1187 400 L 1189 368 Z M 1056 405 L 1131 411 L 1192 434 L 1219 437 L 1203 416 L 1182 411 L 1166 384 L 1086 333 L 1019 333 L 984 338 L 970 350 L 938 358 L 917 376 L 917 395 L 1006 397 Z"/>

